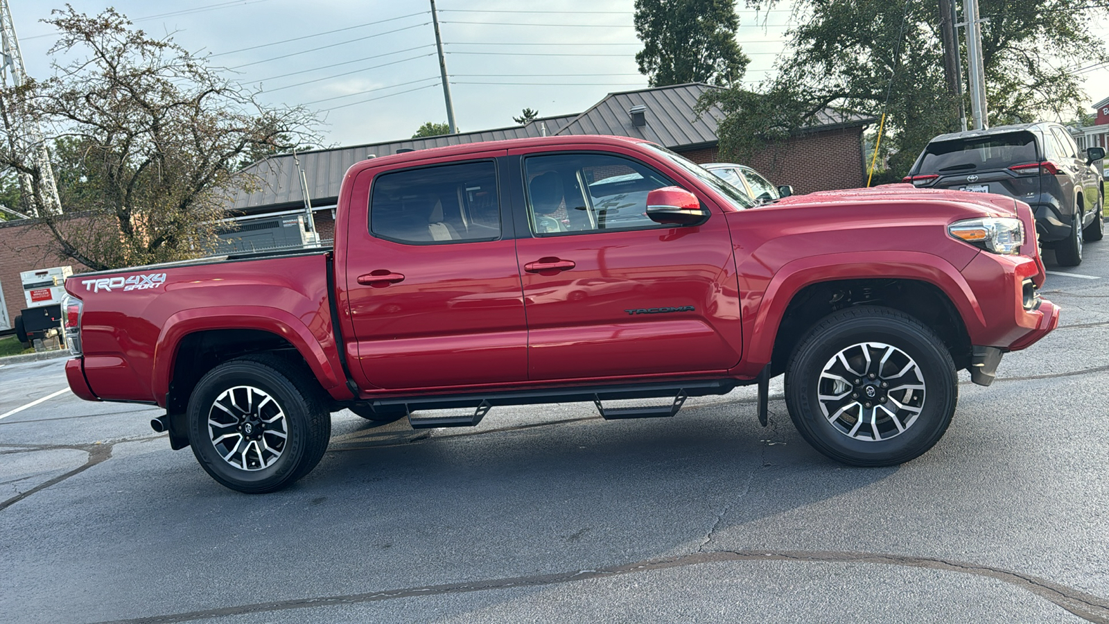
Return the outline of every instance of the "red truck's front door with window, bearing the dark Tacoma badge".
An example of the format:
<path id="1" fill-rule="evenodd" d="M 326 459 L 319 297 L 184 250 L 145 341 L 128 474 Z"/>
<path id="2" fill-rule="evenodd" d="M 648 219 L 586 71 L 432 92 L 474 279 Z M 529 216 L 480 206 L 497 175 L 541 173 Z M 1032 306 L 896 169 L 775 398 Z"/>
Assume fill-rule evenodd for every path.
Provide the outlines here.
<path id="1" fill-rule="evenodd" d="M 710 205 L 705 223 L 685 228 L 648 219 L 648 192 L 675 182 L 633 153 L 509 157 L 523 187 L 517 256 L 531 380 L 719 373 L 740 360 L 723 214 Z"/>

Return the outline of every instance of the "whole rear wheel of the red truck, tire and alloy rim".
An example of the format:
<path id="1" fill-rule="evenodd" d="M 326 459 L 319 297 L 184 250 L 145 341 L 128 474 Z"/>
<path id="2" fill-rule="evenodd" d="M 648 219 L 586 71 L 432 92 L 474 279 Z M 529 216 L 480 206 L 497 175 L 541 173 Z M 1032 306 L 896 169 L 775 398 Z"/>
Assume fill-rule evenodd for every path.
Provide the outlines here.
<path id="1" fill-rule="evenodd" d="M 311 372 L 301 364 L 247 355 L 201 378 L 186 410 L 189 442 L 212 479 L 262 494 L 288 486 L 319 463 L 332 420 L 321 391 L 294 381 L 305 375 Z"/>

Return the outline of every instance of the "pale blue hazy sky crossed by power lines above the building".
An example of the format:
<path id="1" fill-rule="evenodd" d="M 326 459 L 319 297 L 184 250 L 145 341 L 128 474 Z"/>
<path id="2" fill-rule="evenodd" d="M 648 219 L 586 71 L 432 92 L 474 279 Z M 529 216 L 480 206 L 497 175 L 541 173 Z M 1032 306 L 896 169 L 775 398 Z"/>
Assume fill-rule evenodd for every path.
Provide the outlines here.
<path id="1" fill-rule="evenodd" d="M 94 14 L 104 0 L 70 0 Z M 41 23 L 62 1 L 10 0 L 30 76 L 51 74 L 55 39 Z M 455 120 L 461 131 L 515 125 L 523 108 L 578 113 L 604 94 L 647 87 L 633 0 L 437 0 Z M 428 0 L 114 0 L 138 28 L 171 34 L 252 87 L 261 101 L 319 112 L 323 144 L 406 139 L 446 122 Z M 772 76 L 788 0 L 771 12 L 737 7 L 745 82 Z M 558 12 L 556 12 L 558 11 Z M 1106 30 L 1102 24 L 1101 31 Z M 1109 67 L 1082 74 L 1091 107 L 1109 97 Z"/>

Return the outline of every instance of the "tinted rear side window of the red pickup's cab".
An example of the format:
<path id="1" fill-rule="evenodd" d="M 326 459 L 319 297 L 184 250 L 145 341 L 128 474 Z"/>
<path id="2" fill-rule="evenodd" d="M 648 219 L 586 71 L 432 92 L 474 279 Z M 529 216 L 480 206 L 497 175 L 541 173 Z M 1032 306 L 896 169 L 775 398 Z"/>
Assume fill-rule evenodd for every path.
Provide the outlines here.
<path id="1" fill-rule="evenodd" d="M 496 163 L 465 162 L 378 175 L 369 200 L 369 231 L 413 244 L 499 239 Z"/>

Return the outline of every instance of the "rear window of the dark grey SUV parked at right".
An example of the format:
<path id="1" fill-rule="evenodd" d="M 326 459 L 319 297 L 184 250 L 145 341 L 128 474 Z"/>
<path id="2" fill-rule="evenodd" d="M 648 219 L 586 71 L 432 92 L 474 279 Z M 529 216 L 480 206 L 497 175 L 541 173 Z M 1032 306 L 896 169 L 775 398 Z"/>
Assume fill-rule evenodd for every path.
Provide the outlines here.
<path id="1" fill-rule="evenodd" d="M 1021 162 L 1038 162 L 1036 137 L 1010 132 L 956 141 L 928 143 L 917 173 L 956 173 L 1005 169 Z"/>

